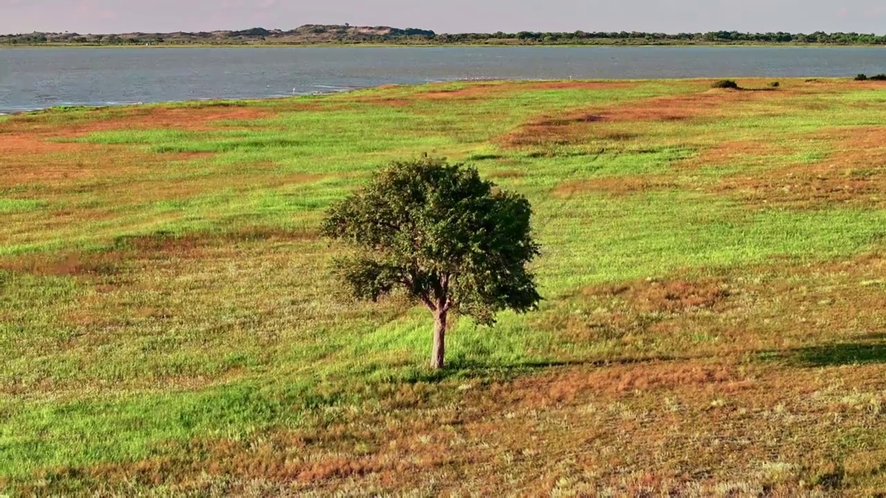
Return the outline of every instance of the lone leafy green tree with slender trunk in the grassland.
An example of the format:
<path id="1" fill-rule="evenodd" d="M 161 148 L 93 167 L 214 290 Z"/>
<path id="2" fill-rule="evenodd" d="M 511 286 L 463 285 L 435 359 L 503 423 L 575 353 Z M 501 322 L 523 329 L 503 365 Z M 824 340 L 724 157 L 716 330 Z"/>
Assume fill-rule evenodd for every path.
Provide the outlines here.
<path id="1" fill-rule="evenodd" d="M 450 313 L 493 325 L 510 308 L 541 297 L 526 264 L 539 253 L 532 207 L 474 167 L 424 156 L 393 162 L 331 206 L 323 235 L 351 245 L 336 273 L 354 297 L 377 301 L 402 291 L 434 316 L 431 368 L 442 369 Z"/>

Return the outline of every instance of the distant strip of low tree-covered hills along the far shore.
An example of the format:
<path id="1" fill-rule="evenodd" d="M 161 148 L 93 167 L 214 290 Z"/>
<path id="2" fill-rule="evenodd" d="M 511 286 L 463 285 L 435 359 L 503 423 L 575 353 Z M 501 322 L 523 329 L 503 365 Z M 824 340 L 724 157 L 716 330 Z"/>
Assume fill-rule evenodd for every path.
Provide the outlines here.
<path id="1" fill-rule="evenodd" d="M 690 44 L 828 44 L 886 45 L 886 35 L 859 33 L 707 33 L 585 32 L 548 33 L 462 33 L 438 35 L 431 30 L 398 27 L 357 27 L 308 24 L 288 31 L 253 27 L 242 31 L 187 33 L 123 33 L 82 35 L 78 33 L 30 33 L 0 35 L 2 45 L 690 45 Z"/>

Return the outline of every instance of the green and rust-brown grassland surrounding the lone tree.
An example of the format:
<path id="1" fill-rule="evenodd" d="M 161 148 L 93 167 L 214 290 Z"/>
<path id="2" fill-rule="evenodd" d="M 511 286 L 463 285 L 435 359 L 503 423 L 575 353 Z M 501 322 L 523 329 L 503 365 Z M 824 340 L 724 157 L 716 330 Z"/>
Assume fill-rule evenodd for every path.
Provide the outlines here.
<path id="1" fill-rule="evenodd" d="M 0 118 L 0 489 L 886 490 L 886 84 L 710 83 Z M 544 245 L 540 311 L 455 323 L 439 374 L 426 313 L 345 300 L 317 237 L 422 152 Z"/>

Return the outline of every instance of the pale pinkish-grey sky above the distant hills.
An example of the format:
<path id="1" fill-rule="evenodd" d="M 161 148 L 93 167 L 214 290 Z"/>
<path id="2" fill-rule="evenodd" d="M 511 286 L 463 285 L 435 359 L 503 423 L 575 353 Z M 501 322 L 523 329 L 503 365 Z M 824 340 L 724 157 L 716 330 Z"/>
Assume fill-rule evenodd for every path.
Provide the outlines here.
<path id="1" fill-rule="evenodd" d="M 884 0 L 0 0 L 0 33 L 212 31 L 302 24 L 438 33 L 736 30 L 886 34 Z"/>

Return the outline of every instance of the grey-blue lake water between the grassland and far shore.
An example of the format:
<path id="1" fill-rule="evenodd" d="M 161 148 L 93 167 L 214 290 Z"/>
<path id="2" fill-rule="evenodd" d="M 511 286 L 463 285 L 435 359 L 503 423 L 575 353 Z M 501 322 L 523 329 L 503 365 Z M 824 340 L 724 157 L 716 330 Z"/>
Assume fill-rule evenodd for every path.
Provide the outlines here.
<path id="1" fill-rule="evenodd" d="M 0 50 L 0 113 L 284 97 L 455 80 L 853 76 L 876 47 L 303 47 Z"/>

